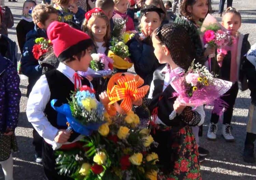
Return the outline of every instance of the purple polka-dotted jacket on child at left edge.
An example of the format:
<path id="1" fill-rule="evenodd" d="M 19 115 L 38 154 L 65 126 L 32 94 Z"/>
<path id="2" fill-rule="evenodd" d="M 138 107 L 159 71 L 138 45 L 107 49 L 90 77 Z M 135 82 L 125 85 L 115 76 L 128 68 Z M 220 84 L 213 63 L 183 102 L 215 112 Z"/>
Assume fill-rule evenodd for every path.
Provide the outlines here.
<path id="1" fill-rule="evenodd" d="M 19 76 L 13 63 L 0 55 L 0 132 L 15 129 L 19 116 Z"/>

